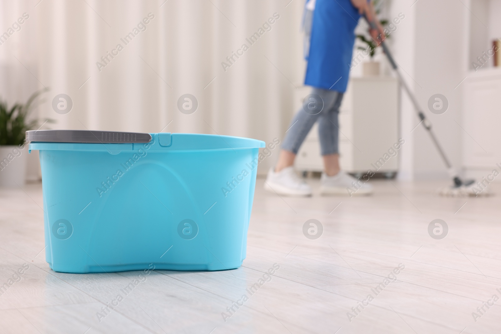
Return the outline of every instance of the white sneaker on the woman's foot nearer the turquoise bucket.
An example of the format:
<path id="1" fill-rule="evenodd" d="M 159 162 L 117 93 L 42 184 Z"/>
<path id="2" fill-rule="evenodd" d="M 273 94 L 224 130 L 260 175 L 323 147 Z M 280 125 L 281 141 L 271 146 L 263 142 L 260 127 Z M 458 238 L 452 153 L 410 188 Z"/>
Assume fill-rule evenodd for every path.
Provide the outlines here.
<path id="1" fill-rule="evenodd" d="M 296 174 L 292 166 L 275 172 L 272 167 L 265 181 L 265 190 L 285 196 L 311 196 L 312 188 Z"/>

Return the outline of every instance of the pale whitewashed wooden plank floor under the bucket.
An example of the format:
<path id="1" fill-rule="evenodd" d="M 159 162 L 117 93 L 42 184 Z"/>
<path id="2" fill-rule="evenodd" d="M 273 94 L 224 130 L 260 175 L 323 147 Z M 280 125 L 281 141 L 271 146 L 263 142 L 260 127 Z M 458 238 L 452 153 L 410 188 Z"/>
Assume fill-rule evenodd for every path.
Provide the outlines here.
<path id="1" fill-rule="evenodd" d="M 309 182 L 318 189 L 318 180 Z M 265 193 L 259 179 L 242 267 L 152 272 L 101 322 L 96 312 L 139 272 L 52 271 L 44 259 L 41 186 L 0 190 L 0 284 L 30 265 L 0 295 L 0 332 L 501 332 L 501 300 L 472 316 L 482 301 L 501 297 L 500 197 L 440 198 L 436 182 L 373 184 L 371 197 L 281 198 Z M 449 226 L 442 240 L 427 232 L 436 218 Z M 319 239 L 303 235 L 308 219 L 322 222 Z M 221 312 L 274 263 L 280 269 L 271 281 L 225 322 Z M 376 295 L 372 289 L 400 263 L 397 281 Z M 368 294 L 374 299 L 350 321 L 347 312 L 355 315 L 352 307 Z"/>

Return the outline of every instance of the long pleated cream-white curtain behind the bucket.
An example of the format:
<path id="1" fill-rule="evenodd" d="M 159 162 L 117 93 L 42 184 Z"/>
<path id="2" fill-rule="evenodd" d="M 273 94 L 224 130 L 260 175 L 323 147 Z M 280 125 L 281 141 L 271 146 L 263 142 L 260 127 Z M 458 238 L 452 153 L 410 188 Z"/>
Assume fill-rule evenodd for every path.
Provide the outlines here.
<path id="1" fill-rule="evenodd" d="M 37 112 L 57 123 L 43 129 L 283 139 L 304 77 L 302 0 L 39 1 L 0 2 L 1 29 L 29 15 L 0 45 L 0 95 L 14 103 L 50 88 Z M 58 94 L 72 99 L 68 114 L 53 110 Z M 178 110 L 183 94 L 196 97 L 195 113 Z"/>

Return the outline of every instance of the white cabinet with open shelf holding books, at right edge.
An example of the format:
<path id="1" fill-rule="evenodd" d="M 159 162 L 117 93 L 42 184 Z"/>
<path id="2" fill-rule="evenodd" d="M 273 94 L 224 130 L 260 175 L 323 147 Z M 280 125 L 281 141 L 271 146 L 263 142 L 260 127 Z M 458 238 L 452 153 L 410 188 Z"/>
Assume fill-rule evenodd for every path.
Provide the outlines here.
<path id="1" fill-rule="evenodd" d="M 501 165 L 501 66 L 494 67 L 491 56 L 492 42 L 501 37 L 501 0 L 469 0 L 465 6 L 469 9 L 465 11 L 467 70 L 458 88 L 463 118 L 455 121 L 462 127 L 464 176 L 481 181 L 493 169 L 499 172 L 497 164 Z"/>

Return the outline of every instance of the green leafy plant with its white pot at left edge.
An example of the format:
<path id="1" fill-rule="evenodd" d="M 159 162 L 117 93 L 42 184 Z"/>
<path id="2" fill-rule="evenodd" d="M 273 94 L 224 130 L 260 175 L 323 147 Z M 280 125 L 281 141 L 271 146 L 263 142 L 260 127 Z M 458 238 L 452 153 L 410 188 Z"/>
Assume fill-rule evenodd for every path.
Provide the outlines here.
<path id="1" fill-rule="evenodd" d="M 25 184 L 28 152 L 25 149 L 26 131 L 36 129 L 39 119 L 30 117 L 37 97 L 46 92 L 33 93 L 26 103 L 9 107 L 0 100 L 0 186 Z M 46 120 L 50 121 L 50 120 Z"/>

